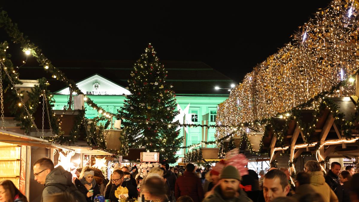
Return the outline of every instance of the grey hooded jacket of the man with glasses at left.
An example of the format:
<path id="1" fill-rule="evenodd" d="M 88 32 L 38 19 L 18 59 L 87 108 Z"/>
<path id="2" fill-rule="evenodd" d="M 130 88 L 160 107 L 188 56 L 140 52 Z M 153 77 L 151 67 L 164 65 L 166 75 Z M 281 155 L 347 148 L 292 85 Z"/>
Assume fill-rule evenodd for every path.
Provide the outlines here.
<path id="1" fill-rule="evenodd" d="M 52 194 L 64 192 L 63 190 L 61 190 L 60 188 L 57 188 L 55 186 L 49 185 L 49 186 L 46 187 L 46 185 L 48 185 L 50 183 L 62 184 L 62 185 L 65 185 L 65 186 L 73 186 L 72 174 L 70 172 L 64 170 L 62 168 L 62 166 L 54 168 L 46 176 L 45 189 L 42 191 L 41 202 L 49 201 L 50 199 L 48 197 L 50 197 Z"/>

